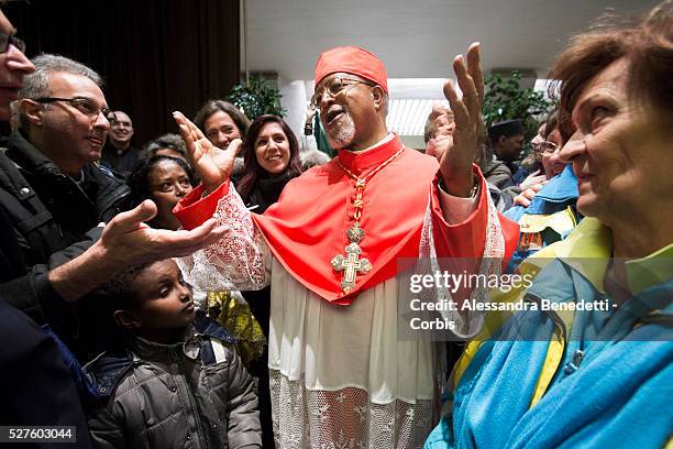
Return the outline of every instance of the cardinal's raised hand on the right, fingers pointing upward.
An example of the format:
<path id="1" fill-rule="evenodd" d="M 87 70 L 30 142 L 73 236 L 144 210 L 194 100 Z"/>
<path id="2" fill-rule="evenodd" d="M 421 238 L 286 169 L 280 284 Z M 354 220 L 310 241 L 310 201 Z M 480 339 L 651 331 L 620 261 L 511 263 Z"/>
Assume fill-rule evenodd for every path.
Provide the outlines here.
<path id="1" fill-rule="evenodd" d="M 484 75 L 479 63 L 478 43 L 470 45 L 467 65 L 462 55 L 453 59 L 453 70 L 463 96 L 457 97 L 451 80 L 444 84 L 444 96 L 451 106 L 455 128 L 450 138 L 437 142 L 437 155 L 449 194 L 466 197 L 474 184 L 472 163 L 483 130 Z"/>

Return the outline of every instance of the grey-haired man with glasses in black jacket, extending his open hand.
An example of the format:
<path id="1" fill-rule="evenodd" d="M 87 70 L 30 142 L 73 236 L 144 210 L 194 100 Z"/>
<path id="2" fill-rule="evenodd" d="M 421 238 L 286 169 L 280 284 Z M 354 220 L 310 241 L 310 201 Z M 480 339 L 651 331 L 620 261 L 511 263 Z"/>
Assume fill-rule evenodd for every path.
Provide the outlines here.
<path id="1" fill-rule="evenodd" d="M 23 58 L 24 75 L 35 69 L 13 45 L 9 48 L 2 56 Z M 23 80 L 13 75 L 22 85 L 21 128 L 0 155 L 0 211 L 7 218 L 0 294 L 68 343 L 79 330 L 77 352 L 90 355 L 101 344 L 93 338 L 100 329 L 85 336 L 74 303 L 126 266 L 189 254 L 221 230 L 212 221 L 192 232 L 152 230 L 143 225 L 156 213 L 151 201 L 121 212 L 128 187 L 95 164 L 109 130 L 100 77 L 62 56 L 42 55 L 34 63 L 36 70 Z M 15 70 L 18 64 L 3 68 Z M 9 105 L 2 106 L 0 118 L 7 120 Z M 93 322 L 80 319 L 79 325 Z"/>

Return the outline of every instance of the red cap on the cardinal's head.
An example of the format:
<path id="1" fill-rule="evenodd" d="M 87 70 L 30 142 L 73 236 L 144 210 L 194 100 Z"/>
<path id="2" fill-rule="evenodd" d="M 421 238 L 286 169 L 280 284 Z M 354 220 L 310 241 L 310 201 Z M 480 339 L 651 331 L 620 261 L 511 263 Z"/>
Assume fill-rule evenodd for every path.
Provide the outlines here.
<path id="1" fill-rule="evenodd" d="M 388 74 L 379 58 L 364 48 L 340 46 L 322 53 L 316 63 L 316 80 L 313 86 L 328 75 L 335 73 L 357 75 L 373 81 L 388 94 Z"/>

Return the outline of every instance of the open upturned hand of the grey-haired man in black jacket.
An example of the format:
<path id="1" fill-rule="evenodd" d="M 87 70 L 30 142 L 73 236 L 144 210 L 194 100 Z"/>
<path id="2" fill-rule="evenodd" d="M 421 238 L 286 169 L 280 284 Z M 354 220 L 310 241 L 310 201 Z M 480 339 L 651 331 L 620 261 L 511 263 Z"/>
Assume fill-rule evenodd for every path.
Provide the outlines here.
<path id="1" fill-rule="evenodd" d="M 155 215 L 156 205 L 145 200 L 135 209 L 114 217 L 97 242 L 102 245 L 103 258 L 120 266 L 179 258 L 214 243 L 224 234 L 224 228 L 218 228 L 213 219 L 191 231 L 153 229 L 144 222 Z"/>

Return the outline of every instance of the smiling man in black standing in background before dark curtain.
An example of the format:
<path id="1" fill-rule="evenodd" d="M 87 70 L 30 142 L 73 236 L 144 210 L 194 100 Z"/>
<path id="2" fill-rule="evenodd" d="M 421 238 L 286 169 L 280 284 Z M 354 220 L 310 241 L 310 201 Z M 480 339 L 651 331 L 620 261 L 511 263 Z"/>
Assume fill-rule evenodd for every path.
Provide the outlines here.
<path id="1" fill-rule="evenodd" d="M 139 150 L 131 144 L 133 122 L 129 114 L 122 111 L 110 112 L 108 121 L 110 133 L 103 146 L 100 163 L 124 177 L 131 172 L 140 154 Z"/>

